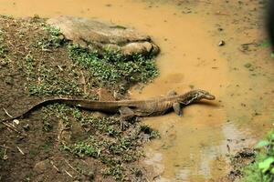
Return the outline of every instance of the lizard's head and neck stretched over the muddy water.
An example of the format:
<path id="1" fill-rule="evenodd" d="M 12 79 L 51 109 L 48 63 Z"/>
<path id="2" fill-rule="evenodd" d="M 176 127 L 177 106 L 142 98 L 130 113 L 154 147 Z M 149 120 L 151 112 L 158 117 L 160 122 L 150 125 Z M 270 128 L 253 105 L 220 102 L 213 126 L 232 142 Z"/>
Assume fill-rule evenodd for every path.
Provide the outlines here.
<path id="1" fill-rule="evenodd" d="M 209 92 L 205 90 L 192 90 L 186 94 L 186 97 L 184 97 L 182 104 L 189 105 L 201 99 L 214 100 L 215 96 L 209 94 Z"/>

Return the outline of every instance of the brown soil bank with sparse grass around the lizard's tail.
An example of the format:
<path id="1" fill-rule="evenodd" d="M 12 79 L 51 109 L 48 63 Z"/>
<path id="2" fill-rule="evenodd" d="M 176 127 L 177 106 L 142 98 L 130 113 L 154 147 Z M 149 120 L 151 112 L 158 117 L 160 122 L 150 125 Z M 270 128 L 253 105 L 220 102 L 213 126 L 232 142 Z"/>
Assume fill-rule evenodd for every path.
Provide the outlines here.
<path id="1" fill-rule="evenodd" d="M 110 97 L 110 86 L 72 62 L 66 40 L 54 39 L 44 19 L 1 16 L 0 25 L 1 120 L 48 96 Z M 135 120 L 121 129 L 117 116 L 43 107 L 0 124 L 0 181 L 145 180 L 138 158 L 152 132 Z"/>

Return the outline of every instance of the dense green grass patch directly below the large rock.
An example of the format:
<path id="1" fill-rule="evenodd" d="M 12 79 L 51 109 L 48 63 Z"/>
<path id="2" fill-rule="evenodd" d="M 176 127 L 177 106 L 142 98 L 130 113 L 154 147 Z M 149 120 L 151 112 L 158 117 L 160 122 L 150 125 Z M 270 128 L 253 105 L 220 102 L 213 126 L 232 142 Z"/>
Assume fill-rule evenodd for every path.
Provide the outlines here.
<path id="1" fill-rule="evenodd" d="M 88 69 L 92 76 L 108 86 L 122 82 L 146 83 L 158 76 L 153 57 L 135 55 L 129 58 L 109 50 L 100 56 L 78 45 L 68 45 L 68 52 L 75 63 Z"/>

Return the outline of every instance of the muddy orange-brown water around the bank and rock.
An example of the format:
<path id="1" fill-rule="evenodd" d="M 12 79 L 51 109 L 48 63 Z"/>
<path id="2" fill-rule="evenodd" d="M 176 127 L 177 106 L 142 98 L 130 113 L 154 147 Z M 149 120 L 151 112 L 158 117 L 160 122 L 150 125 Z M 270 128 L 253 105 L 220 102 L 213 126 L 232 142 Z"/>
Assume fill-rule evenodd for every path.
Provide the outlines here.
<path id="1" fill-rule="evenodd" d="M 257 2 L 243 1 L 240 7 L 237 1 L 174 2 L 0 0 L 0 14 L 92 17 L 152 35 L 162 49 L 161 75 L 142 90 L 133 88 L 132 97 L 184 93 L 194 86 L 210 91 L 216 101 L 187 106 L 182 117 L 146 118 L 162 138 L 146 147 L 144 164 L 153 168 L 157 181 L 207 181 L 227 173 L 227 154 L 254 145 L 270 130 L 274 61 L 263 46 L 239 50 L 241 44 L 264 40 Z M 217 46 L 220 40 L 226 45 Z"/>

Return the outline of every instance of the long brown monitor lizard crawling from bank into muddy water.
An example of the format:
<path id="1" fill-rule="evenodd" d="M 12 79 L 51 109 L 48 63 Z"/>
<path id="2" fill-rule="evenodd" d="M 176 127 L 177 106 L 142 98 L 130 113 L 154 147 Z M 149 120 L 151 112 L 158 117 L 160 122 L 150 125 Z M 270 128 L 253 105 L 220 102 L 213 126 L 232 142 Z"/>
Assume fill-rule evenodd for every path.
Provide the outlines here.
<path id="1" fill-rule="evenodd" d="M 201 99 L 214 100 L 215 96 L 209 94 L 209 92 L 205 90 L 197 89 L 183 95 L 173 93 L 168 96 L 159 96 L 147 100 L 93 101 L 88 99 L 51 98 L 31 106 L 23 114 L 6 118 L 2 120 L 2 122 L 25 118 L 28 114 L 41 106 L 56 103 L 105 113 L 120 112 L 121 116 L 124 118 L 132 116 L 161 116 L 172 109 L 174 109 L 174 112 L 178 116 L 182 116 L 183 106 L 190 105 Z"/>

